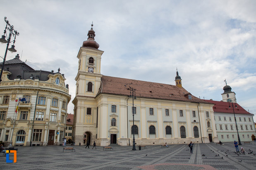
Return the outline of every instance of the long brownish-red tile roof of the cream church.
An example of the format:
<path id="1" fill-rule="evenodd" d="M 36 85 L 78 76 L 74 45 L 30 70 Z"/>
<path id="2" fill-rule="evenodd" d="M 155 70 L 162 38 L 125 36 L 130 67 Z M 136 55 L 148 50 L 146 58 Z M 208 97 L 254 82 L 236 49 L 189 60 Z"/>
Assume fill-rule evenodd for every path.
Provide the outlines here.
<path id="1" fill-rule="evenodd" d="M 161 84 L 153 82 L 144 82 L 140 80 L 124 79 L 119 77 L 102 76 L 99 93 L 107 93 L 114 95 L 130 95 L 129 86 L 136 89 L 136 97 L 153 98 L 163 100 L 178 100 L 184 102 L 200 102 L 209 103 L 192 95 L 192 99 L 188 98 L 189 92 L 184 88 L 175 85 Z M 124 86 L 126 85 L 126 86 Z M 98 93 L 98 94 L 99 94 Z"/>

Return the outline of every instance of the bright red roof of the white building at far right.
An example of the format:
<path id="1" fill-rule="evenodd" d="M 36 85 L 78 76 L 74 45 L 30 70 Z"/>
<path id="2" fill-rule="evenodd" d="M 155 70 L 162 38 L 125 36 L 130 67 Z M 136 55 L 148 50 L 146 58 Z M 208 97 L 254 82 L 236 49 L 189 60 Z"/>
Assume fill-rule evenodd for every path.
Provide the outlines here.
<path id="1" fill-rule="evenodd" d="M 251 114 L 247 112 L 243 107 L 241 107 L 238 103 L 233 103 L 234 106 L 234 111 L 232 108 L 232 103 L 229 102 L 220 102 L 220 101 L 214 101 L 214 100 L 205 100 L 207 102 L 211 102 L 215 104 L 213 106 L 213 112 L 218 112 L 218 113 L 236 113 L 236 114 Z M 237 108 L 235 107 L 237 105 Z M 229 108 L 230 106 L 230 108 Z M 251 114 L 253 115 L 253 114 Z"/>

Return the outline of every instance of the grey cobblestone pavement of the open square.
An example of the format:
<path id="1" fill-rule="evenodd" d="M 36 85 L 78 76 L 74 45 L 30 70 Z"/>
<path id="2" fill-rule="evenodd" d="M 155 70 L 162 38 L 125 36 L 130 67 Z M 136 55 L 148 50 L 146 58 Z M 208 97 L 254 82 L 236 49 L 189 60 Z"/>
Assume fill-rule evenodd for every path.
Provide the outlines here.
<path id="1" fill-rule="evenodd" d="M 243 144 L 243 142 L 242 142 Z M 147 149 L 132 151 L 132 146 L 112 146 L 103 151 L 85 146 L 74 146 L 76 151 L 62 152 L 63 147 L 17 147 L 17 162 L 6 163 L 0 154 L 1 170 L 252 170 L 256 167 L 256 144 L 243 144 L 246 154 L 235 154 L 234 144 L 194 144 L 193 154 L 184 144 L 150 145 Z M 69 147 L 69 146 L 67 146 Z M 239 146 L 241 149 L 241 146 Z M 250 151 L 252 154 L 248 154 Z M 255 155 L 254 155 L 255 151 Z M 205 156 L 202 156 L 205 154 Z M 217 155 L 217 156 L 216 156 Z M 227 156 L 226 156 L 227 155 Z M 10 160 L 13 160 L 10 154 Z M 242 160 L 242 162 L 239 162 Z"/>

